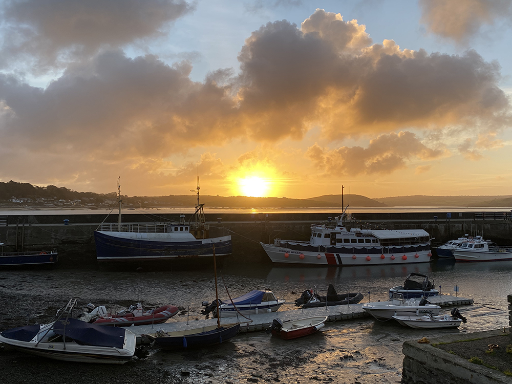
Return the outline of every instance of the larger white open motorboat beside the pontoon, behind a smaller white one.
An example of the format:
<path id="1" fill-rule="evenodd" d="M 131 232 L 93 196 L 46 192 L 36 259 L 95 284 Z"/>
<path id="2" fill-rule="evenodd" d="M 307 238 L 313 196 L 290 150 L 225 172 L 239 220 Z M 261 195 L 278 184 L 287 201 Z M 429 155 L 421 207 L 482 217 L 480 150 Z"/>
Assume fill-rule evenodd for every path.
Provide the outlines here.
<path id="1" fill-rule="evenodd" d="M 430 303 L 426 298 L 406 300 L 399 293 L 384 302 L 365 303 L 362 309 L 379 320 L 387 320 L 393 316 L 438 315 L 441 307 Z"/>

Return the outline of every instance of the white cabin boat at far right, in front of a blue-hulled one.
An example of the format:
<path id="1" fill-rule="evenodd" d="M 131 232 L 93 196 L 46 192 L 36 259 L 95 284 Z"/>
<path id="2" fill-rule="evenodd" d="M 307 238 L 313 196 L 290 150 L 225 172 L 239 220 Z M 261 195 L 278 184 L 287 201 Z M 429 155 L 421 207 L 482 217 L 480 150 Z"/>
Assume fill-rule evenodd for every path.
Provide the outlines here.
<path id="1" fill-rule="evenodd" d="M 481 236 L 469 238 L 467 243 L 460 244 L 452 252 L 456 261 L 503 261 L 512 260 L 512 246 L 499 246 Z"/>

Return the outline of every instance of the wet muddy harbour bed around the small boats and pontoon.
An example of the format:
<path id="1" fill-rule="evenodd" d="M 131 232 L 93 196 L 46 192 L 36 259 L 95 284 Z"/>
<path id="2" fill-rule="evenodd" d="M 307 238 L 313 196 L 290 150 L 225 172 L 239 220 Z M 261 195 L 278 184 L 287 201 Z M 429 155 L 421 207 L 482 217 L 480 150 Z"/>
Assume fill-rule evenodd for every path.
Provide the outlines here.
<path id="1" fill-rule="evenodd" d="M 479 267 L 475 273 L 478 279 L 485 279 L 481 269 Z M 353 274 L 357 270 L 349 271 Z M 343 279 L 337 281 L 336 276 L 331 280 L 318 276 L 321 271 L 317 269 L 310 275 L 305 272 L 297 279 L 281 276 L 281 272 L 251 269 L 243 274 L 224 272 L 223 277 L 233 297 L 259 284 L 269 286 L 277 296 L 287 299 L 282 310 L 295 309 L 292 304 L 294 298 L 313 285 L 332 282 L 340 293 L 354 289 L 366 293 L 372 289 L 371 301 L 375 301 L 386 297 L 386 288 L 403 281 L 401 276 L 399 279 L 394 275 L 382 278 L 380 270 L 376 276 L 368 275 L 365 270 L 364 275 L 357 279 L 340 271 Z M 468 274 L 470 277 L 466 279 L 471 279 L 467 283 L 459 277 L 458 284 L 465 288 L 475 281 L 472 273 Z M 496 275 L 494 271 L 489 273 Z M 436 281 L 444 275 L 445 272 L 437 273 Z M 225 293 L 221 278 L 219 285 L 220 292 Z M 508 290 L 508 286 L 504 289 Z M 506 295 L 502 299 L 499 293 L 496 293 L 496 298 L 463 293 L 465 297 L 475 297 L 476 305 L 459 308 L 468 317 L 468 323 L 452 331 L 428 331 L 425 334 L 425 331 L 404 328 L 392 321 L 356 319 L 326 324 L 320 332 L 295 340 L 281 340 L 265 332 L 253 332 L 239 334 L 229 342 L 208 349 L 169 353 L 152 348 L 146 359 L 123 366 L 60 362 L 25 355 L 6 347 L 0 352 L 0 380 L 52 384 L 103 381 L 127 384 L 145 381 L 396 383 L 401 380 L 401 347 L 404 341 L 423 336 L 442 337 L 444 333 L 498 329 L 507 325 Z M 204 271 L 138 274 L 95 270 L 0 271 L 0 295 L 3 307 L 0 330 L 47 323 L 70 297 L 80 297 L 78 304 L 81 308 L 92 302 L 114 311 L 139 300 L 146 308 L 173 304 L 181 311 L 169 321 L 186 322 L 188 319 L 193 323 L 196 318 L 203 318 L 200 314 L 201 301 L 211 302 L 215 297 L 215 285 L 211 273 Z M 364 302 L 368 300 L 365 294 Z M 483 301 L 490 305 L 482 305 Z"/>

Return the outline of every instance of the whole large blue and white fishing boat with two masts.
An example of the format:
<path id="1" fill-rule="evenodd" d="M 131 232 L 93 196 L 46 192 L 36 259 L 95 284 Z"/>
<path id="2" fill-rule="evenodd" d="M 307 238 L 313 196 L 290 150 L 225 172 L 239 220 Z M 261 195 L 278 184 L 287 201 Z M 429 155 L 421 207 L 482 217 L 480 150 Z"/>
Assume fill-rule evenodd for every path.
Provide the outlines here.
<path id="1" fill-rule="evenodd" d="M 196 189 L 197 204 L 194 215 L 185 222 L 156 224 L 126 224 L 121 222 L 121 190 L 117 223 L 101 223 L 94 231 L 96 257 L 100 263 L 173 262 L 177 265 L 210 266 L 213 249 L 217 257 L 231 254 L 231 236 L 209 236 L 209 225 L 199 204 L 199 179 Z"/>

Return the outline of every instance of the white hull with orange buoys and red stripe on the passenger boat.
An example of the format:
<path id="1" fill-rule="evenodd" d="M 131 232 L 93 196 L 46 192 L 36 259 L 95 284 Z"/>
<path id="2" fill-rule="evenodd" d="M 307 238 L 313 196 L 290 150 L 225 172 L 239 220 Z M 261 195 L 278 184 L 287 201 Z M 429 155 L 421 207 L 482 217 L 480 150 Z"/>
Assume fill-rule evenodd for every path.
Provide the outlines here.
<path id="1" fill-rule="evenodd" d="M 273 263 L 318 266 L 394 265 L 430 261 L 430 245 L 400 247 L 312 246 L 282 242 L 281 246 L 260 243 Z"/>

